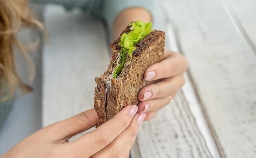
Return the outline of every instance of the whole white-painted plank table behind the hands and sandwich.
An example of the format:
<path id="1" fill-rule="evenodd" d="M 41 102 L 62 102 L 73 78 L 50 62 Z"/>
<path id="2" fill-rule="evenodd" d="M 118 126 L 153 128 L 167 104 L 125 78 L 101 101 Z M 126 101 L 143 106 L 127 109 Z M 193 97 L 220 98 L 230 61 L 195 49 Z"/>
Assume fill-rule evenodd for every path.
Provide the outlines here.
<path id="1" fill-rule="evenodd" d="M 177 97 L 143 123 L 131 156 L 255 157 L 256 1 L 158 2 L 154 27 L 190 66 Z M 92 108 L 94 78 L 110 60 L 100 21 L 57 6 L 45 21 L 44 126 Z"/>

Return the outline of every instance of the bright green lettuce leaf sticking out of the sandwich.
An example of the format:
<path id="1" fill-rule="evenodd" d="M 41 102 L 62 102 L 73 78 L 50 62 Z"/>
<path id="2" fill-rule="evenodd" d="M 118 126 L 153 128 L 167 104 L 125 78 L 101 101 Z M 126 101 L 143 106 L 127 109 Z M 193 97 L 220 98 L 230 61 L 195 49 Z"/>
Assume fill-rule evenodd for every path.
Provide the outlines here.
<path id="1" fill-rule="evenodd" d="M 136 49 L 135 45 L 146 35 L 152 32 L 151 22 L 143 22 L 138 20 L 132 22 L 130 26 L 131 32 L 123 33 L 120 42 L 118 43 L 122 49 L 120 51 L 118 65 L 113 72 L 113 78 L 117 78 L 120 75 L 126 61 L 126 55 L 128 54 L 132 58 L 133 51 Z"/>

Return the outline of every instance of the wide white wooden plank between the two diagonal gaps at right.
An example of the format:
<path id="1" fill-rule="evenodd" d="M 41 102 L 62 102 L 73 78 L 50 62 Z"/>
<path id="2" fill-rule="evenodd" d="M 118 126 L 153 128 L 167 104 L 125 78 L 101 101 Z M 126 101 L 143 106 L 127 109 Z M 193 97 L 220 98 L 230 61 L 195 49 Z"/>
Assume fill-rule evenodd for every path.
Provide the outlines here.
<path id="1" fill-rule="evenodd" d="M 244 39 L 220 1 L 164 3 L 221 156 L 254 157 L 256 62 Z"/>

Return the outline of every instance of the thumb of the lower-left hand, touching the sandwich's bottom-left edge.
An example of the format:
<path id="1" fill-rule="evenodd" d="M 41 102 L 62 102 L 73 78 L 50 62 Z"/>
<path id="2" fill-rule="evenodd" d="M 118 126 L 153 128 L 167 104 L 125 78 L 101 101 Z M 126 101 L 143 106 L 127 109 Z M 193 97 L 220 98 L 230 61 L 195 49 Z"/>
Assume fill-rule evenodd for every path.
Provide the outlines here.
<path id="1" fill-rule="evenodd" d="M 81 112 L 78 115 L 75 115 L 69 119 L 59 121 L 48 127 L 44 128 L 49 133 L 52 134 L 54 139 L 65 139 L 68 140 L 72 136 L 90 129 L 96 125 L 98 121 L 98 116 L 96 114 L 95 109 L 90 109 L 84 112 Z M 50 130 L 49 130 L 50 129 Z"/>

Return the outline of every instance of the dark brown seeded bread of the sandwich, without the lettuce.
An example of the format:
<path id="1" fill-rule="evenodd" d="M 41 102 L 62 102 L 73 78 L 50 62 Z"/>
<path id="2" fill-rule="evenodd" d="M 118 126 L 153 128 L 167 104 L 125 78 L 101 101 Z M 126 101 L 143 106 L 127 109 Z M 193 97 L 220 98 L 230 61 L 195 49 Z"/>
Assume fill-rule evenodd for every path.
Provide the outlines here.
<path id="1" fill-rule="evenodd" d="M 130 31 L 127 27 L 122 33 Z M 95 79 L 97 86 L 94 107 L 99 118 L 97 127 L 112 119 L 124 106 L 139 103 L 140 89 L 150 84 L 144 80 L 145 70 L 163 59 L 165 34 L 154 30 L 136 44 L 132 59 L 129 55 L 126 56 L 124 68 L 118 78 L 112 78 L 112 73 L 119 61 L 120 37 L 110 45 L 113 56 L 108 69 Z"/>

